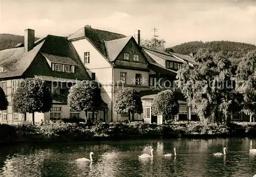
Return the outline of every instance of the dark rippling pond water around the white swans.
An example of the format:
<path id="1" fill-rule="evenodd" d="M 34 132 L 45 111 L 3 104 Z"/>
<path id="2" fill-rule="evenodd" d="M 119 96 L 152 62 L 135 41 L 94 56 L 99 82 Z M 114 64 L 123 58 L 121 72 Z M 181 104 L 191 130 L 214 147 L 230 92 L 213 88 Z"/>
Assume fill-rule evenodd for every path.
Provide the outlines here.
<path id="1" fill-rule="evenodd" d="M 177 157 L 163 157 L 173 153 Z M 214 157 L 223 153 L 226 157 Z M 96 141 L 70 144 L 22 144 L 2 147 L 0 176 L 246 176 L 256 174 L 256 139 L 168 139 Z M 150 154 L 154 158 L 139 159 Z M 75 159 L 89 158 L 93 162 L 77 163 Z"/>

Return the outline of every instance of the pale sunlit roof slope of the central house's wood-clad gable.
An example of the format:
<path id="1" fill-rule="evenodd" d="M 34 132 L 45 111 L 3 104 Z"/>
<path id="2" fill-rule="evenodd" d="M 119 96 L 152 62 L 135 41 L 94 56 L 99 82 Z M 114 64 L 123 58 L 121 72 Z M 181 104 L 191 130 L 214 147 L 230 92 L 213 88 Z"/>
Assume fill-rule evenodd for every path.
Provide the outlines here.
<path id="1" fill-rule="evenodd" d="M 111 41 L 105 41 L 105 46 L 110 61 L 114 61 L 120 54 L 124 46 L 129 42 L 132 37 L 125 37 Z"/>

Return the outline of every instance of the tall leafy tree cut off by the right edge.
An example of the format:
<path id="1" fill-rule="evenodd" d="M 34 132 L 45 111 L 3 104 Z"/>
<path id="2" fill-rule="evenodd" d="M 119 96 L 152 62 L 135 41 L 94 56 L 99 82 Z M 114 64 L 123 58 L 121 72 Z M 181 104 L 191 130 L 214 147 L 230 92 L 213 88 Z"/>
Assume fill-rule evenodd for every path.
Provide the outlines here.
<path id="1" fill-rule="evenodd" d="M 236 89 L 243 94 L 243 112 L 250 116 L 256 113 L 256 50 L 249 52 L 239 63 L 236 75 Z"/>

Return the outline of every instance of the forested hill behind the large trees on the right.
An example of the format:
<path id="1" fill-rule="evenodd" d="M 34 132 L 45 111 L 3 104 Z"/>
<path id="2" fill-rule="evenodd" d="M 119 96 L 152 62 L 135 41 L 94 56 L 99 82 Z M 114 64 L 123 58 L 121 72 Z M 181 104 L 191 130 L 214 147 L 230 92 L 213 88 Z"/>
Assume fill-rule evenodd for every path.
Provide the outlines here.
<path id="1" fill-rule="evenodd" d="M 210 52 L 222 52 L 228 57 L 241 58 L 247 52 L 255 50 L 256 46 L 252 44 L 242 42 L 230 42 L 230 41 L 191 41 L 185 42 L 172 47 L 175 53 L 178 54 L 190 54 L 197 53 L 200 48 L 208 49 Z M 168 50 L 168 48 L 166 48 Z"/>

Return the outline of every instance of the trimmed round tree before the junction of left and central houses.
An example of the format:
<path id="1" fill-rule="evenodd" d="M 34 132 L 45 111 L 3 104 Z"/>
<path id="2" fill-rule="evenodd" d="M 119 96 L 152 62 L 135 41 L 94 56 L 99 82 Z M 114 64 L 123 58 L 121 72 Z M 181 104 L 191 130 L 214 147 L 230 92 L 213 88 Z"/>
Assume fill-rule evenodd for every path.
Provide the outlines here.
<path id="1" fill-rule="evenodd" d="M 100 87 L 95 81 L 76 83 L 69 90 L 68 106 L 76 111 L 93 111 L 94 114 L 101 104 Z"/>

